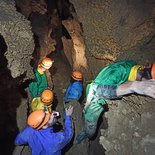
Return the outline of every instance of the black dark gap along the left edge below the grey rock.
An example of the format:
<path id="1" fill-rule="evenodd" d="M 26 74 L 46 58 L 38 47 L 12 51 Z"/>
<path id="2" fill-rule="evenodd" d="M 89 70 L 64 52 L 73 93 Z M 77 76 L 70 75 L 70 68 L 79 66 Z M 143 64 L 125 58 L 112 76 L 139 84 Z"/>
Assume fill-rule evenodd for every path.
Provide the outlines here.
<path id="1" fill-rule="evenodd" d="M 18 132 L 16 124 L 16 109 L 21 96 L 18 92 L 18 79 L 13 79 L 7 68 L 5 52 L 7 45 L 0 35 L 0 152 L 11 155 L 14 149 L 14 139 Z"/>

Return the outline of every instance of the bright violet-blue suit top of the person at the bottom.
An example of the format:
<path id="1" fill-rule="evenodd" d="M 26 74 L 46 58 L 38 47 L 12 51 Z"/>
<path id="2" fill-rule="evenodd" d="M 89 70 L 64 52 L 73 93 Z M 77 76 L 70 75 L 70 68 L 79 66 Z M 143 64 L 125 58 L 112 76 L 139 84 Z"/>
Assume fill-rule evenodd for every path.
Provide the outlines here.
<path id="1" fill-rule="evenodd" d="M 72 132 L 71 117 L 66 116 L 64 132 L 54 133 L 52 128 L 35 130 L 27 126 L 17 135 L 15 145 L 28 144 L 32 155 L 61 155 L 61 149 L 70 142 Z"/>

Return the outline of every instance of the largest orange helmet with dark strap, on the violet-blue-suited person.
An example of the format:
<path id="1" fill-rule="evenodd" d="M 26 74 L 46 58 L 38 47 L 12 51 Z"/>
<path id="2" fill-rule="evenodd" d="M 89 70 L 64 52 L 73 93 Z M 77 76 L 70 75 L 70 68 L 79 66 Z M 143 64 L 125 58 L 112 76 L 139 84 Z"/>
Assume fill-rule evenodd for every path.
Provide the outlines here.
<path id="1" fill-rule="evenodd" d="M 48 111 L 36 110 L 29 115 L 27 124 L 32 128 L 39 130 L 48 122 L 49 119 L 50 113 Z"/>

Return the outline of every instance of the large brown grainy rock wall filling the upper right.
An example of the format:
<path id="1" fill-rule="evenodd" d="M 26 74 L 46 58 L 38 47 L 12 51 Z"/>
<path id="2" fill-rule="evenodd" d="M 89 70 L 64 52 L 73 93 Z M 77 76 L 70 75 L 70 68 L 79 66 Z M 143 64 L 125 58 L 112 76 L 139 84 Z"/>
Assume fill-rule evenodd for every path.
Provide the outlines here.
<path id="1" fill-rule="evenodd" d="M 102 66 L 118 60 L 118 57 L 124 56 L 127 51 L 134 52 L 132 54 L 134 59 L 136 50 L 154 37 L 155 11 L 152 0 L 71 0 L 71 2 L 83 26 L 87 59 L 93 61 L 89 65 L 98 64 L 99 69 L 90 66 L 94 75 Z M 138 61 L 142 63 L 149 58 L 148 54 L 147 58 Z"/>

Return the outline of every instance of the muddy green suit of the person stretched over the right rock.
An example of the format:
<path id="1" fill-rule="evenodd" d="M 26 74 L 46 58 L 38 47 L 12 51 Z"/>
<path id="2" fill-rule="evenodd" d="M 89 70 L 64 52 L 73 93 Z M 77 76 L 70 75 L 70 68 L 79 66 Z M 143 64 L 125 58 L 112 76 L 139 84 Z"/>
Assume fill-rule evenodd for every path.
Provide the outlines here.
<path id="1" fill-rule="evenodd" d="M 116 62 L 103 68 L 93 83 L 87 85 L 86 101 L 88 103 L 83 110 L 84 131 L 76 137 L 76 143 L 85 138 L 91 138 L 97 128 L 97 122 L 104 111 L 105 99 L 116 99 L 116 88 L 130 79 L 130 71 L 136 62 L 132 60 Z M 120 98 L 120 97 L 119 97 Z"/>

